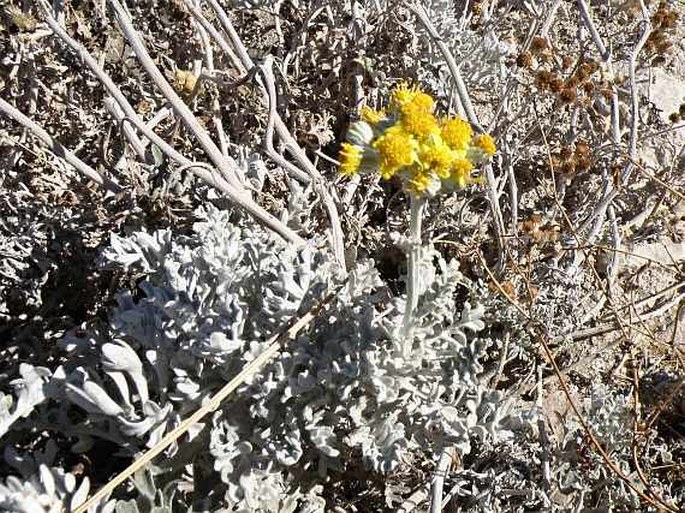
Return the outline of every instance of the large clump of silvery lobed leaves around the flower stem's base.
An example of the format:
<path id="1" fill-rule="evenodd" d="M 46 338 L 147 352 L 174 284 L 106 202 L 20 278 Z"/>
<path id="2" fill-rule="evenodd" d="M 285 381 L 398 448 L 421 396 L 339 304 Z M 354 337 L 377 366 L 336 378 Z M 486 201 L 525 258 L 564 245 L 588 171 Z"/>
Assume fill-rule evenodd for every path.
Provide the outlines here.
<path id="1" fill-rule="evenodd" d="M 276 361 L 182 439 L 211 456 L 224 489 L 217 500 L 241 511 L 322 512 L 330 472 L 387 473 L 412 454 L 456 446 L 466 455 L 474 440 L 505 433 L 507 408 L 481 380 L 493 344 L 478 337 L 484 309 L 455 300 L 469 287 L 456 263 L 424 249 L 415 349 L 405 358 L 404 299 L 390 299 L 372 261 L 345 278 L 313 245 L 294 249 L 215 207 L 195 215 L 189 235 L 112 236 L 104 263 L 142 277 L 140 297 L 119 294 L 108 331 L 62 341 L 69 364 L 46 393 L 86 415 L 75 425 L 69 408 L 42 413 L 77 438 L 72 450 L 97 438 L 130 454 L 153 446 L 343 280 Z"/>

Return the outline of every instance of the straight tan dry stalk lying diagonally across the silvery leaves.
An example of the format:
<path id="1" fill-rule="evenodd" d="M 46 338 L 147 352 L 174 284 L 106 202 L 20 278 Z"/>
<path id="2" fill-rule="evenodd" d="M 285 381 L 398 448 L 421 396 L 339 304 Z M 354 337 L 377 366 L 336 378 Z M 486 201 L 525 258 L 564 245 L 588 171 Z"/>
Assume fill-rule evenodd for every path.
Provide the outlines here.
<path id="1" fill-rule="evenodd" d="M 86 513 L 88 508 L 95 506 L 101 500 L 109 497 L 109 495 L 119 485 L 124 483 L 124 481 L 126 481 L 139 470 L 145 468 L 148 463 L 160 455 L 167 447 L 183 436 L 190 428 L 200 422 L 204 417 L 216 411 L 240 385 L 242 385 L 248 378 L 259 372 L 262 367 L 264 367 L 276 355 L 276 353 L 278 353 L 279 349 L 281 349 L 285 342 L 294 339 L 303 328 L 307 327 L 316 318 L 319 312 L 321 312 L 321 310 L 323 310 L 338 295 L 338 292 L 340 292 L 345 284 L 346 282 L 337 285 L 335 289 L 320 303 L 311 308 L 299 319 L 293 319 L 293 322 L 289 327 L 284 327 L 280 333 L 277 333 L 267 340 L 267 348 L 263 353 L 245 365 L 231 381 L 226 383 L 221 390 L 214 394 L 214 396 L 212 396 L 211 399 L 203 404 L 195 413 L 181 422 L 181 424 L 179 424 L 175 429 L 167 433 L 167 435 L 162 438 L 157 445 L 146 451 L 131 465 L 120 472 L 114 479 L 100 488 L 90 499 L 76 508 L 74 513 Z"/>

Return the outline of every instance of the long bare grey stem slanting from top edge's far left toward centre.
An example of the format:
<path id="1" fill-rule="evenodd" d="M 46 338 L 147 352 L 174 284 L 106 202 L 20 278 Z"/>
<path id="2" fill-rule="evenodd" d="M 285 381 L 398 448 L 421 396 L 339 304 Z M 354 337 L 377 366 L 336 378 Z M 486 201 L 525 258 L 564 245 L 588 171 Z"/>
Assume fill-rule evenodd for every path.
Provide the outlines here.
<path id="1" fill-rule="evenodd" d="M 45 2 L 45 0 L 39 0 L 38 5 L 43 11 L 45 21 L 53 30 L 53 32 L 67 45 L 69 46 L 84 62 L 88 68 L 93 72 L 93 74 L 98 78 L 98 80 L 104 85 L 105 89 L 112 95 L 114 100 L 119 104 L 125 114 L 122 122 L 129 121 L 138 130 L 140 130 L 150 141 L 152 141 L 162 152 L 167 155 L 171 160 L 177 162 L 182 166 L 186 166 L 188 169 L 193 170 L 198 178 L 206 182 L 207 184 L 215 187 L 217 190 L 221 191 L 231 202 L 233 202 L 239 208 L 245 210 L 247 213 L 251 214 L 257 221 L 262 223 L 267 228 L 270 228 L 277 234 L 279 234 L 283 239 L 292 242 L 298 246 L 305 244 L 304 239 L 297 235 L 294 231 L 288 228 L 286 225 L 281 223 L 278 219 L 269 214 L 262 207 L 257 205 L 249 197 L 243 194 L 241 191 L 236 190 L 232 187 L 226 180 L 224 180 L 218 172 L 207 168 L 204 164 L 198 164 L 190 159 L 186 158 L 178 151 L 176 151 L 171 145 L 169 145 L 164 139 L 155 133 L 155 131 L 148 126 L 138 115 L 135 109 L 131 106 L 129 101 L 123 95 L 119 87 L 112 81 L 110 76 L 100 67 L 93 56 L 86 50 L 86 48 L 78 43 L 75 39 L 69 36 L 62 26 L 55 20 L 52 16 L 50 7 Z"/>

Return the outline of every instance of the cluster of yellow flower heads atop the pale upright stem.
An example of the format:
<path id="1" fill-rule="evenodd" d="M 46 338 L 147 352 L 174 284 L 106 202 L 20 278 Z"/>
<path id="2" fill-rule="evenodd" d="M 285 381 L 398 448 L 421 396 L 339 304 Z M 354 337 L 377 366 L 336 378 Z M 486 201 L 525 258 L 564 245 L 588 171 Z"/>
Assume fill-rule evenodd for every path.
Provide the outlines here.
<path id="1" fill-rule="evenodd" d="M 389 103 L 387 111 L 362 108 L 340 150 L 341 173 L 378 171 L 384 180 L 398 176 L 412 194 L 434 195 L 474 182 L 473 170 L 497 151 L 467 121 L 438 119 L 433 98 L 417 87 L 400 84 Z"/>

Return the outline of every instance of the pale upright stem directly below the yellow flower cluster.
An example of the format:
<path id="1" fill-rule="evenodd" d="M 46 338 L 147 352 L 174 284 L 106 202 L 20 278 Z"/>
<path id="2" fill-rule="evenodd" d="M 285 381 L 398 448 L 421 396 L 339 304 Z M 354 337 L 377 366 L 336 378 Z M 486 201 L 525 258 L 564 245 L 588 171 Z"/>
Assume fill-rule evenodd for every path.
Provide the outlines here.
<path id="1" fill-rule="evenodd" d="M 424 198 L 410 194 L 409 249 L 407 250 L 407 303 L 402 320 L 402 354 L 406 358 L 412 350 L 414 311 L 419 303 L 419 262 L 421 260 L 421 221 Z"/>

